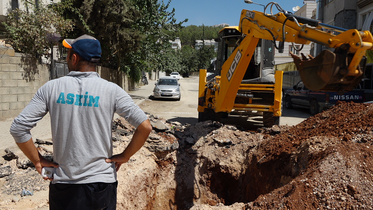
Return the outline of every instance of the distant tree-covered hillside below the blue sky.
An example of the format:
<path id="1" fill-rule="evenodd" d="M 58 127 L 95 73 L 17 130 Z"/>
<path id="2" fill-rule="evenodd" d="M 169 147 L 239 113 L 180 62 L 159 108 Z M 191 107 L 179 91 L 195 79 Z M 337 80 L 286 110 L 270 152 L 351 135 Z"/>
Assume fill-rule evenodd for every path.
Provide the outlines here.
<path id="1" fill-rule="evenodd" d="M 167 35 L 173 37 L 180 37 L 181 45 L 189 45 L 194 46 L 195 40 L 201 40 L 203 37 L 205 40 L 208 39 L 215 39 L 218 36 L 219 31 L 223 27 L 212 27 L 212 26 L 197 26 L 197 25 L 189 25 L 185 28 L 180 29 L 178 32 L 171 32 L 171 31 L 164 31 Z M 204 29 L 204 35 L 203 35 Z"/>

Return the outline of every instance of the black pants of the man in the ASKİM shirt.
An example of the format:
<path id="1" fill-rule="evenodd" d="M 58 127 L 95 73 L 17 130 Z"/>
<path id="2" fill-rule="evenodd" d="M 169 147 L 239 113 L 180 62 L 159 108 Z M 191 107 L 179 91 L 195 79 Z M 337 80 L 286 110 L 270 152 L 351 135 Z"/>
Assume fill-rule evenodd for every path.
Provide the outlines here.
<path id="1" fill-rule="evenodd" d="M 115 210 L 118 182 L 49 184 L 50 210 Z"/>

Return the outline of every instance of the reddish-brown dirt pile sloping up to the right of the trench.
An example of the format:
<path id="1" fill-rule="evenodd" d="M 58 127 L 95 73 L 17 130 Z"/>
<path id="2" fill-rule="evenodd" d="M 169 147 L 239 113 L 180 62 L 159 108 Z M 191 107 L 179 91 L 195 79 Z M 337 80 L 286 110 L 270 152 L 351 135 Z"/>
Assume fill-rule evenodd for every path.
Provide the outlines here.
<path id="1" fill-rule="evenodd" d="M 225 192 L 215 194 L 242 209 L 373 209 L 372 125 L 372 105 L 339 103 L 278 135 L 264 132 L 243 154 L 241 170 L 228 171 L 228 186 L 226 176 L 212 187 L 222 176 L 210 176 L 210 192 Z M 226 160 L 237 157 L 230 154 Z"/>

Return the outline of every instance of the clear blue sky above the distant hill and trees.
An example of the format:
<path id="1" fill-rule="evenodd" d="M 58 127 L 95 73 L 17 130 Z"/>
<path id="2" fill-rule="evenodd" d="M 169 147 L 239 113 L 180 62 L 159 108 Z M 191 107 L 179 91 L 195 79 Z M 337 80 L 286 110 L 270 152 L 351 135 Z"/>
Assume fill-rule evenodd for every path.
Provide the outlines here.
<path id="1" fill-rule="evenodd" d="M 253 0 L 255 3 L 266 5 L 271 0 Z M 167 0 L 164 0 L 167 3 Z M 295 6 L 302 7 L 303 0 L 276 0 L 280 6 L 287 11 L 293 12 Z M 244 0 L 172 0 L 170 9 L 175 8 L 177 21 L 189 19 L 184 23 L 188 25 L 216 25 L 226 23 L 238 25 L 242 9 L 257 10 L 263 12 L 264 7 L 256 4 L 244 3 Z M 277 13 L 277 9 L 273 9 Z M 267 9 L 269 13 L 269 9 Z"/>

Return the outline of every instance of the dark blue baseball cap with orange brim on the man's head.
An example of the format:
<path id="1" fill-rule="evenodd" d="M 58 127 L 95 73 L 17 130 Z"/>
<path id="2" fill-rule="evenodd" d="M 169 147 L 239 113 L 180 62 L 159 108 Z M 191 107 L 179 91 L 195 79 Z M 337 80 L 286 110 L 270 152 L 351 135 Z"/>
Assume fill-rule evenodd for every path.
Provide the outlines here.
<path id="1" fill-rule="evenodd" d="M 101 58 L 101 44 L 96 38 L 84 34 L 76 39 L 64 39 L 63 46 L 72 48 L 76 54 L 87 61 L 98 62 Z"/>

